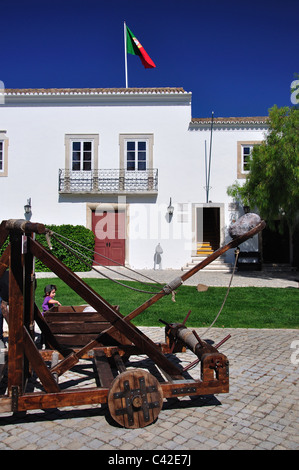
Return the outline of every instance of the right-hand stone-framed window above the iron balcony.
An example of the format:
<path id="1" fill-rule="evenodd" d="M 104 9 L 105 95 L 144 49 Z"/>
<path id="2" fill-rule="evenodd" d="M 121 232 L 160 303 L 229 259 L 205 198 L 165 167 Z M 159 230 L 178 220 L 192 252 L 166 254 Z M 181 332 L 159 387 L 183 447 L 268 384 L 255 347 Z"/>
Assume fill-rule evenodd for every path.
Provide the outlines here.
<path id="1" fill-rule="evenodd" d="M 153 134 L 120 134 L 120 169 L 146 171 L 153 168 Z"/>

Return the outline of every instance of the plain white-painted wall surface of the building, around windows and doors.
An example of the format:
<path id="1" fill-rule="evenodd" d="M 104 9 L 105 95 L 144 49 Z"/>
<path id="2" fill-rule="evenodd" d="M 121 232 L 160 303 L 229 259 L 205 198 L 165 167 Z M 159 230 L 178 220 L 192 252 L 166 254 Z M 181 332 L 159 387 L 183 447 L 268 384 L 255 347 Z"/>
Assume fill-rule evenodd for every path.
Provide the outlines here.
<path id="1" fill-rule="evenodd" d="M 164 105 L 163 105 L 164 104 Z M 152 268 L 155 247 L 163 248 L 163 268 L 180 268 L 191 258 L 192 220 L 177 220 L 178 204 L 206 202 L 205 141 L 210 129 L 189 128 L 191 102 L 154 104 L 1 106 L 0 128 L 9 139 L 8 177 L 0 178 L 0 218 L 24 218 L 31 197 L 32 220 L 45 224 L 86 225 L 86 202 L 113 202 L 117 196 L 59 196 L 58 169 L 65 168 L 65 135 L 98 134 L 99 168 L 119 167 L 120 134 L 153 134 L 153 167 L 159 171 L 158 196 L 130 196 L 129 264 Z M 231 213 L 227 186 L 237 178 L 237 141 L 262 140 L 263 130 L 214 128 L 210 197 Z M 173 218 L 167 217 L 172 198 Z"/>

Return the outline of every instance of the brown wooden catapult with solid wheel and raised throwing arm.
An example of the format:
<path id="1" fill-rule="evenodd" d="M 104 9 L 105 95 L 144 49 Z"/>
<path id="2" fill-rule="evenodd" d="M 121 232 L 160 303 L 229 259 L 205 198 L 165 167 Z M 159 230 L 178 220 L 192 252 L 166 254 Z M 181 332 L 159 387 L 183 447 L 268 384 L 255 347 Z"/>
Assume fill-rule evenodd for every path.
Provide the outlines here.
<path id="1" fill-rule="evenodd" d="M 108 405 L 112 418 L 125 428 L 139 428 L 154 423 L 164 399 L 184 396 L 228 393 L 229 362 L 218 347 L 211 346 L 190 331 L 185 323 L 168 323 L 165 342 L 154 343 L 132 322 L 159 299 L 173 294 L 184 281 L 227 250 L 236 248 L 265 227 L 265 222 L 246 214 L 234 224 L 232 241 L 201 263 L 174 279 L 128 315 L 110 305 L 81 278 L 67 268 L 51 251 L 35 240 L 35 233 L 47 241 L 55 236 L 43 224 L 10 219 L 0 224 L 0 248 L 9 244 L 0 258 L 0 277 L 9 269 L 8 352 L 0 362 L 0 385 L 7 371 L 5 393 L 0 395 L 1 412 L 23 412 L 80 405 Z M 50 246 L 51 248 L 51 246 Z M 91 308 L 52 307 L 42 315 L 35 303 L 36 278 L 34 258 L 40 259 L 54 274 L 72 288 Z M 189 315 L 189 314 L 188 314 Z M 35 323 L 46 342 L 46 350 L 35 343 Z M 192 351 L 196 360 L 182 368 L 167 355 Z M 141 368 L 126 368 L 124 359 L 147 356 L 158 369 L 159 380 Z M 59 378 L 81 359 L 93 361 L 96 386 L 60 387 Z M 200 378 L 187 371 L 200 363 Z M 49 365 L 50 364 L 50 365 Z M 40 387 L 32 392 L 27 385 L 35 372 Z M 161 378 L 161 379 L 160 379 Z M 80 382 L 80 381 L 79 381 Z"/>

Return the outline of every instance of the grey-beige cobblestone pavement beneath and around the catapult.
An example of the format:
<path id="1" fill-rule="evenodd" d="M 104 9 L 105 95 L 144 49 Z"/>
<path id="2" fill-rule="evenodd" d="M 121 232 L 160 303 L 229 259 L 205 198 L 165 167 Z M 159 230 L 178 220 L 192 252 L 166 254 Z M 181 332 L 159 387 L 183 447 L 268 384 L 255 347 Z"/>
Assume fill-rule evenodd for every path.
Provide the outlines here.
<path id="1" fill-rule="evenodd" d="M 164 341 L 163 328 L 141 329 L 154 341 Z M 231 334 L 220 348 L 230 361 L 228 394 L 164 400 L 157 420 L 139 429 L 119 427 L 106 405 L 2 413 L 0 450 L 298 450 L 299 330 L 197 332 L 215 343 Z M 195 358 L 190 352 L 177 357 L 183 366 Z M 130 361 L 143 367 L 148 360 L 141 359 Z M 81 361 L 59 383 L 72 386 L 78 373 L 80 387 L 94 384 L 89 361 Z M 190 370 L 194 378 L 198 373 Z"/>

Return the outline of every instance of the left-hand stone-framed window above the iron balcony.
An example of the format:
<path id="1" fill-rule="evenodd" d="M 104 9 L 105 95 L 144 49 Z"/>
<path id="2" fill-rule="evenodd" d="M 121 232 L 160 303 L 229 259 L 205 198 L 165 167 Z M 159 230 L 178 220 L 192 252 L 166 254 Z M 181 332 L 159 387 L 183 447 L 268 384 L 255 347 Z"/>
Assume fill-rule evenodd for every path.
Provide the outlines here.
<path id="1" fill-rule="evenodd" d="M 65 169 L 91 171 L 98 169 L 98 134 L 66 134 Z"/>

